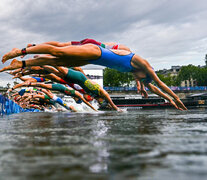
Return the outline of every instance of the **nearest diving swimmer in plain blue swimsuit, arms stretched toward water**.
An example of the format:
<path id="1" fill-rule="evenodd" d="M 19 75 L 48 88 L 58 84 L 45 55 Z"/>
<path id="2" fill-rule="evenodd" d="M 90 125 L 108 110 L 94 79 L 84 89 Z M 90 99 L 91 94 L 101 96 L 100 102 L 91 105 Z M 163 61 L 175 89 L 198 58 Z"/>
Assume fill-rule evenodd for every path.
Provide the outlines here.
<path id="1" fill-rule="evenodd" d="M 26 66 L 52 65 L 74 67 L 87 64 L 102 65 L 121 72 L 132 72 L 135 79 L 137 81 L 143 81 L 144 85 L 147 86 L 150 91 L 168 100 L 175 108 L 187 110 L 179 97 L 158 78 L 148 61 L 129 51 L 108 50 L 94 44 L 64 47 L 39 44 L 23 48 L 22 50 L 15 48 L 3 56 L 2 62 L 4 63 L 8 59 L 25 54 L 50 54 L 51 56 L 40 56 L 28 59 L 27 61 L 18 61 L 14 59 L 9 66 L 2 68 L 0 72 L 21 67 L 24 68 Z M 169 98 L 156 86 L 152 85 L 151 80 L 154 80 L 158 87 L 173 99 Z"/>

